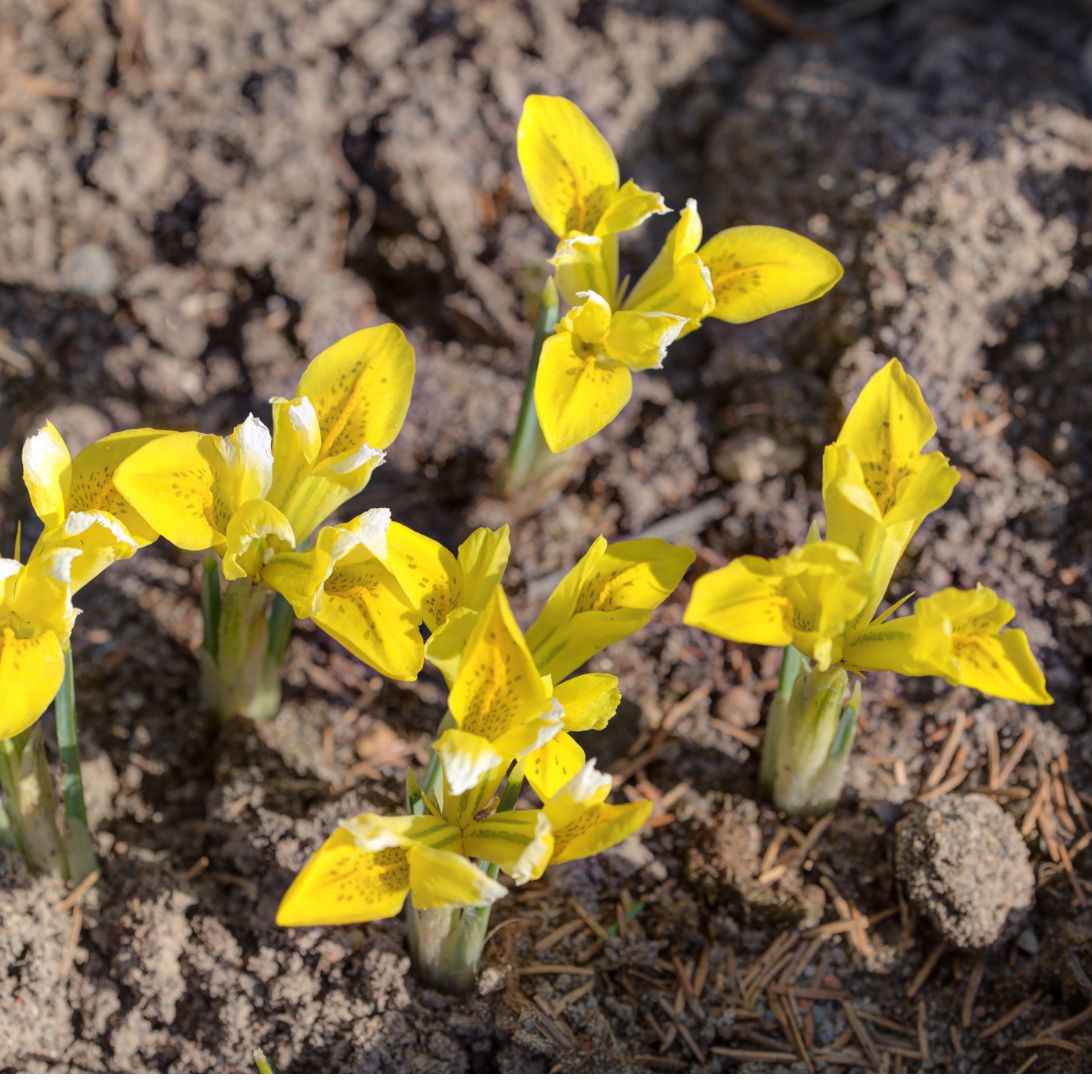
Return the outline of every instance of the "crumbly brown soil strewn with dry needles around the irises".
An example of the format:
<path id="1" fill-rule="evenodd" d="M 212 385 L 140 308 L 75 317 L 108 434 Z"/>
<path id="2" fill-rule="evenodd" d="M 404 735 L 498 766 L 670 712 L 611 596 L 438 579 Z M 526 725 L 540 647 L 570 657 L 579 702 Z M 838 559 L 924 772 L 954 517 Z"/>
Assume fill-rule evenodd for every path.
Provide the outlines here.
<path id="1" fill-rule="evenodd" d="M 441 685 L 301 628 L 277 720 L 219 727 L 195 561 L 157 546 L 80 597 L 100 881 L 64 904 L 0 855 L 0 1068 L 249 1071 L 257 1047 L 319 1071 L 1092 1067 L 1088 11 L 3 0 L 0 549 L 34 534 L 19 453 L 41 417 L 75 447 L 268 419 L 306 357 L 394 319 L 413 406 L 345 512 L 450 544 L 510 520 L 525 625 L 600 533 L 657 527 L 695 572 L 798 542 L 822 444 L 898 354 L 962 483 L 891 595 L 999 590 L 1057 703 L 871 677 L 836 816 L 784 822 L 756 785 L 775 652 L 682 627 L 684 585 L 596 661 L 626 703 L 593 752 L 657 800 L 651 827 L 502 901 L 479 994 L 452 1007 L 397 922 L 273 925 L 339 817 L 397 803 Z M 515 166 L 533 91 L 578 100 L 624 175 L 696 197 L 710 234 L 795 228 L 846 274 L 679 343 L 556 498 L 506 506 L 490 476 L 549 251 Z M 627 240 L 630 265 L 664 227 Z M 986 791 L 1035 867 L 1023 930 L 977 959 L 941 950 L 893 875 L 895 821 L 938 787 Z"/>

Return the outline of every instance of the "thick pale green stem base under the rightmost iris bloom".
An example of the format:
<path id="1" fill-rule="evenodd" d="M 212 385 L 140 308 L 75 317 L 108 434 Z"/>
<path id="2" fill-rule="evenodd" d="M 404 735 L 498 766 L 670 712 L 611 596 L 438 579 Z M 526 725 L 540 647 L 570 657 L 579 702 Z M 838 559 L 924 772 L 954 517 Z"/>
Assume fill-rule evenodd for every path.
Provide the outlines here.
<path id="1" fill-rule="evenodd" d="M 792 645 L 767 719 L 763 795 L 786 814 L 826 814 L 835 805 L 856 731 L 860 685 L 845 668 L 814 667 Z M 848 699 L 846 695 L 848 693 Z"/>

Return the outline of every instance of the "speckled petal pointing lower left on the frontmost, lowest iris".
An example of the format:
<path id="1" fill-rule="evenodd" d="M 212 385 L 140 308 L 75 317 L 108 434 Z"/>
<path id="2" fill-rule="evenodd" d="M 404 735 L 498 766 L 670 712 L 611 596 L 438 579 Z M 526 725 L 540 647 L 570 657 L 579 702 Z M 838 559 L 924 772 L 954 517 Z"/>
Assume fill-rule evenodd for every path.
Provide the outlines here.
<path id="1" fill-rule="evenodd" d="M 288 887 L 278 926 L 340 926 L 391 918 L 410 891 L 408 848 L 364 851 L 344 826 L 307 861 Z"/>

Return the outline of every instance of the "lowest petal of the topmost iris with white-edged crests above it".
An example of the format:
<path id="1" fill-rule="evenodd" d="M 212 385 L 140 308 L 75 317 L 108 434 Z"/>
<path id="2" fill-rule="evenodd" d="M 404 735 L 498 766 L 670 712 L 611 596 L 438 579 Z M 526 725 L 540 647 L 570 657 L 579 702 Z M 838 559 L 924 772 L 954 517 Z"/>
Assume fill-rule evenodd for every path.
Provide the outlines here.
<path id="1" fill-rule="evenodd" d="M 612 311 L 593 292 L 579 297 L 546 339 L 535 379 L 535 410 L 554 453 L 603 430 L 632 396 L 630 372 L 662 367 L 687 323 L 680 314 Z"/>

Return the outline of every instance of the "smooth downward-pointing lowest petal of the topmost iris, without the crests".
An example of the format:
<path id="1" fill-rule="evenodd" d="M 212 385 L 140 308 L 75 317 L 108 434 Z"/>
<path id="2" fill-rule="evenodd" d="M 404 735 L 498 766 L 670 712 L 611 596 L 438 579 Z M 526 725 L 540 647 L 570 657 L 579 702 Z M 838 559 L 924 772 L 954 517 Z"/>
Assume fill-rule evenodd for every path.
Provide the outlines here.
<path id="1" fill-rule="evenodd" d="M 633 392 L 629 368 L 577 354 L 571 333 L 546 339 L 535 378 L 535 411 L 546 444 L 560 453 L 602 431 Z"/>

